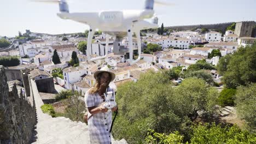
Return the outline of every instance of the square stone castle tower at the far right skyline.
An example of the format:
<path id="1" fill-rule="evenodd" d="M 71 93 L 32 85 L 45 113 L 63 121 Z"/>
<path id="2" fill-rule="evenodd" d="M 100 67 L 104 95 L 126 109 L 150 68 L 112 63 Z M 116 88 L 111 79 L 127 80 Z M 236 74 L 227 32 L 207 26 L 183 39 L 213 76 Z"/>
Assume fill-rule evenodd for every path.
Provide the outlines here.
<path id="1" fill-rule="evenodd" d="M 254 25 L 256 25 L 255 21 L 237 22 L 235 34 L 237 34 L 238 37 L 252 37 Z"/>

